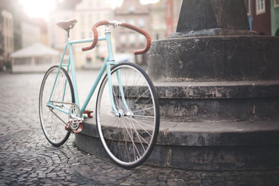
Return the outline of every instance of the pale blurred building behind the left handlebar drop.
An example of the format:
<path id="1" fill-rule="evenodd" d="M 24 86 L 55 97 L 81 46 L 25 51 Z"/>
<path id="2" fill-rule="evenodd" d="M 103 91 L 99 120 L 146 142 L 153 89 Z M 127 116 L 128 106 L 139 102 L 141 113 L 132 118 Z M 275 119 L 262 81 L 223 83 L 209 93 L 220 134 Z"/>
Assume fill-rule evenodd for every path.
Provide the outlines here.
<path id="1" fill-rule="evenodd" d="M 105 0 L 82 0 L 75 7 L 75 18 L 78 22 L 74 29 L 74 38 L 80 40 L 93 38 L 93 24 L 102 20 L 114 20 L 114 14 L 110 3 Z M 104 33 L 105 26 L 98 27 L 98 36 L 105 36 Z M 107 56 L 106 42 L 100 41 L 94 49 L 83 52 L 82 47 L 89 45 L 91 43 L 75 45 L 75 60 L 84 68 L 100 68 Z"/>

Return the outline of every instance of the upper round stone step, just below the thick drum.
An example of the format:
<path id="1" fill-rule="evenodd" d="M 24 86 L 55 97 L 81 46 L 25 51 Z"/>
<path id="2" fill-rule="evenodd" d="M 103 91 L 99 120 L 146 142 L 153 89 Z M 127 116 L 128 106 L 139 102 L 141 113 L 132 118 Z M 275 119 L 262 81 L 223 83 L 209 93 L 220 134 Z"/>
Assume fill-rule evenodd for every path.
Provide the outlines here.
<path id="1" fill-rule="evenodd" d="M 154 82 L 160 116 L 180 121 L 279 119 L 279 80 L 243 82 Z M 130 91 L 130 87 L 124 87 Z M 114 88 L 116 89 L 116 88 Z M 135 99 L 144 88 L 130 91 Z M 146 98 L 150 95 L 146 95 Z"/>

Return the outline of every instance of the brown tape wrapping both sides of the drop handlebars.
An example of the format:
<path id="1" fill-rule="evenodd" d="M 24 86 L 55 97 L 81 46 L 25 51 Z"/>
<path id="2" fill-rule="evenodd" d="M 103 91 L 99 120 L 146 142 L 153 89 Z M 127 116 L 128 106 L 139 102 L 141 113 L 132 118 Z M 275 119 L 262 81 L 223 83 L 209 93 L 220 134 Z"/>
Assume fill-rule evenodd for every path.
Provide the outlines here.
<path id="1" fill-rule="evenodd" d="M 93 25 L 92 31 L 93 31 L 94 40 L 93 40 L 92 44 L 89 47 L 83 47 L 82 51 L 93 49 L 93 47 L 95 47 L 97 45 L 97 42 L 98 42 L 97 27 L 101 26 L 101 25 L 106 25 L 106 24 L 110 24 L 110 22 L 108 22 L 108 21 L 100 21 L 100 22 L 97 22 L 96 24 Z M 146 37 L 146 47 L 144 49 L 136 50 L 134 52 L 135 55 L 137 55 L 137 54 L 144 54 L 145 52 L 149 51 L 149 48 L 151 46 L 151 38 L 149 36 L 149 33 L 144 31 L 143 29 L 138 28 L 137 26 L 134 26 L 134 25 L 128 24 L 128 23 L 124 23 L 124 22 L 121 23 L 119 26 L 123 26 L 123 27 L 126 27 L 128 29 L 132 29 L 134 31 L 137 31 L 138 33 L 142 33 L 142 35 L 144 35 Z"/>

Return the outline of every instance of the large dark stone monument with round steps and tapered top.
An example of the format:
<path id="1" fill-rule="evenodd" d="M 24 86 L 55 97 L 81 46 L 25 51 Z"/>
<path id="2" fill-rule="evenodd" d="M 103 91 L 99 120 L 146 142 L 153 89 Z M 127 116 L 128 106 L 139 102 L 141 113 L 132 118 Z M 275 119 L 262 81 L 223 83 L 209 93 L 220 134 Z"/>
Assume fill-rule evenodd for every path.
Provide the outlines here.
<path id="1" fill-rule="evenodd" d="M 183 0 L 176 33 L 151 43 L 163 131 L 150 161 L 278 169 L 278 51 L 279 38 L 249 31 L 243 0 Z"/>

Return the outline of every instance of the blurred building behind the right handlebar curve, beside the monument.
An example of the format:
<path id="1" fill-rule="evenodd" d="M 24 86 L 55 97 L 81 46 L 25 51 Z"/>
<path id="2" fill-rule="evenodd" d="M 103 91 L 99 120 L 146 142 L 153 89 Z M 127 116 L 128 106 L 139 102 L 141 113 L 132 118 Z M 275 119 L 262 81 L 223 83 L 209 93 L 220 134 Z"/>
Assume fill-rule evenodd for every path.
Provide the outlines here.
<path id="1" fill-rule="evenodd" d="M 115 19 L 119 22 L 126 22 L 144 29 L 151 33 L 150 6 L 142 5 L 140 0 L 123 0 L 120 7 L 116 8 Z M 117 36 L 116 52 L 133 54 L 137 49 L 146 45 L 146 38 L 133 30 L 120 27 L 115 30 Z M 152 39 L 152 38 L 151 38 Z M 135 56 L 136 63 L 147 65 L 148 54 Z"/>

